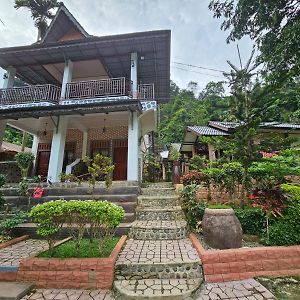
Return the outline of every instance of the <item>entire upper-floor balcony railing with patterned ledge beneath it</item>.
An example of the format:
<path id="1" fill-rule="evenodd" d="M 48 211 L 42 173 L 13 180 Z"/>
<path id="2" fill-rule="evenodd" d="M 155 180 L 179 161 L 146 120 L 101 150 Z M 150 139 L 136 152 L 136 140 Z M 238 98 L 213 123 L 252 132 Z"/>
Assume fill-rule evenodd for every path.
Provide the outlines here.
<path id="1" fill-rule="evenodd" d="M 52 84 L 0 89 L 0 108 L 84 104 L 130 98 L 154 100 L 154 84 L 140 84 L 137 95 L 132 95 L 131 84 L 125 77 L 71 82 L 66 84 L 63 98 L 61 88 Z"/>

